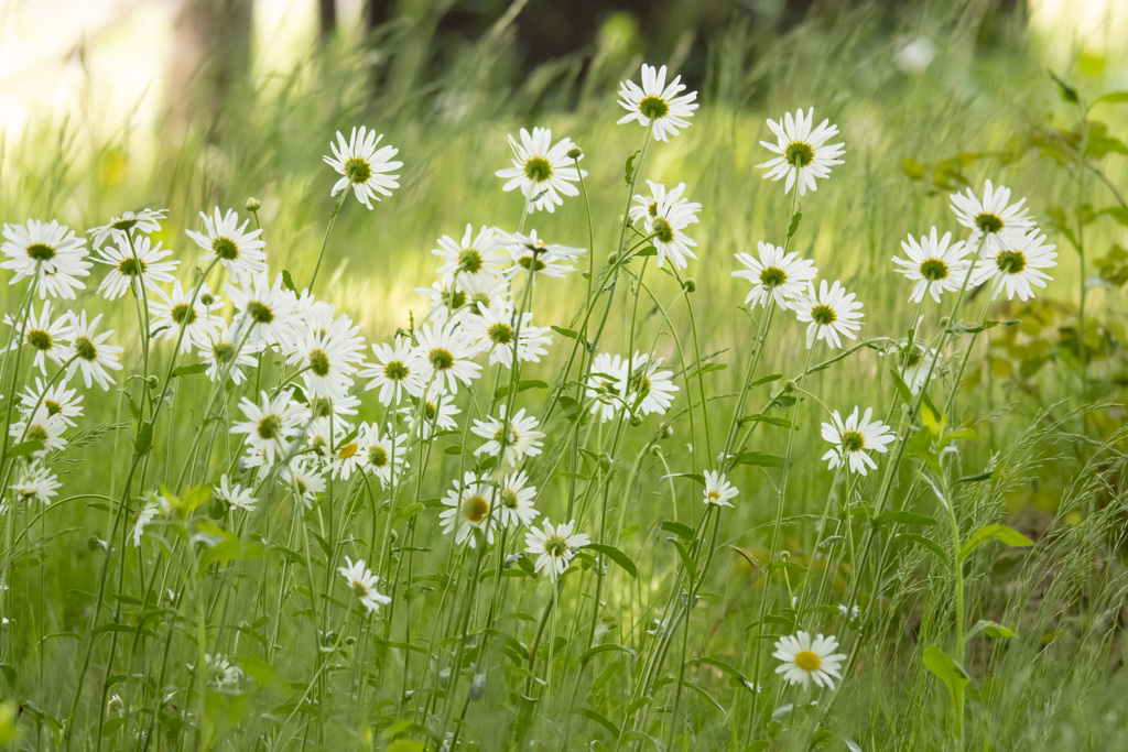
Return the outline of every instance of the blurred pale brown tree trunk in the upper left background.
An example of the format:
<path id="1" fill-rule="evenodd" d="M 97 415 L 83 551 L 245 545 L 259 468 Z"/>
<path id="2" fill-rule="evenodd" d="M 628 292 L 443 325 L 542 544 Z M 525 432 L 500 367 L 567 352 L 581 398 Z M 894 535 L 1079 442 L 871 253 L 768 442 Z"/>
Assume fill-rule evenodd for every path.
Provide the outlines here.
<path id="1" fill-rule="evenodd" d="M 179 0 L 169 98 L 184 123 L 214 117 L 250 72 L 253 0 Z"/>

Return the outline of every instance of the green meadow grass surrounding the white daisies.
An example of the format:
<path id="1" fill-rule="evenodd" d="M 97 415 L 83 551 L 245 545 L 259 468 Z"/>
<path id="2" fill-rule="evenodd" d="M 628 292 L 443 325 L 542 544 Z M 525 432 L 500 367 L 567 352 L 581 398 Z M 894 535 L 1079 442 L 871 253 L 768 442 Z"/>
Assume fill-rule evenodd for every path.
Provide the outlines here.
<path id="1" fill-rule="evenodd" d="M 900 28 L 937 48 L 910 76 L 890 65 L 887 23 L 863 7 L 829 28 L 803 25 L 755 59 L 763 48 L 733 28 L 714 46 L 693 124 L 669 143 L 615 124 L 616 86 L 637 81 L 642 61 L 597 54 L 605 62 L 587 79 L 545 69 L 506 90 L 492 68 L 497 39 L 461 51 L 462 64 L 429 87 L 390 87 L 395 99 L 370 101 L 362 53 L 344 50 L 257 81 L 249 104 L 211 130 L 170 124 L 152 141 L 97 133 L 77 116 L 6 138 L 5 222 L 85 229 L 167 207 L 153 238 L 176 250 L 191 285 L 200 256 L 184 230 L 200 230 L 197 212 L 217 205 L 249 216 L 254 196 L 271 278 L 287 269 L 300 291 L 335 205 L 338 176 L 320 157 L 337 130 L 374 126 L 399 149 L 400 186 L 372 212 L 345 196 L 314 291 L 372 343 L 424 319 L 414 289 L 434 278 L 429 251 L 467 223 L 588 248 L 594 273 L 591 290 L 579 273 L 537 280 L 534 322 L 564 330 L 549 355 L 519 377 L 487 365 L 459 396 L 458 430 L 413 439 L 412 469 L 390 489 L 368 475 L 333 479 L 307 510 L 297 484 L 271 480 L 255 512 L 212 492 L 223 472 L 248 487 L 277 472 L 237 469 L 239 399 L 300 374 L 268 351 L 243 386 L 215 387 L 191 368 L 169 378 L 199 357 L 174 363 L 173 344 L 156 339 L 147 369 L 132 295 L 99 301 L 88 281 L 74 308 L 105 311 L 100 329 L 126 348 L 121 373 L 138 378 L 105 392 L 72 379 L 85 415 L 46 458 L 63 489 L 51 505 L 6 492 L 0 733 L 14 749 L 1128 747 L 1125 319 L 1110 250 L 1128 215 L 1114 211 L 1123 152 L 1099 141 L 1125 132 L 1128 110 L 1095 105 L 1070 142 L 1055 129 L 1068 131 L 1077 108 L 1016 29 L 992 48 L 977 43 L 970 12 Z M 1061 73 L 1090 103 L 1104 92 L 1099 79 Z M 545 83 L 572 79 L 574 99 Z M 770 157 L 765 120 L 808 106 L 838 125 L 845 163 L 793 204 L 755 166 Z M 509 166 L 505 135 L 522 125 L 582 149 L 587 195 L 523 216 L 520 194 L 502 193 L 494 176 Z M 641 167 L 625 168 L 644 142 Z M 1107 154 L 1086 151 L 1100 174 L 1070 166 L 1070 143 L 1103 144 Z M 623 260 L 626 183 L 645 195 L 645 179 L 685 182 L 703 205 L 687 230 L 699 259 L 680 277 L 650 256 Z M 890 259 L 933 224 L 963 237 L 949 194 L 964 182 L 979 193 L 984 179 L 1026 197 L 1058 247 L 1054 281 L 1029 303 L 985 304 L 987 290 L 969 290 L 955 316 L 966 329 L 980 311 L 1005 325 L 944 334 L 953 291 L 926 300 L 918 327 L 911 284 Z M 767 328 L 763 308 L 740 306 L 748 286 L 731 277 L 733 254 L 784 245 L 790 230 L 790 250 L 857 293 L 867 345 L 808 351 L 790 311 Z M 1085 294 L 1082 350 L 1078 291 L 1098 272 L 1108 281 Z M 12 316 L 26 284 L 7 292 Z M 523 306 L 522 284 L 513 299 Z M 600 423 L 589 413 L 576 380 L 593 353 L 567 331 L 609 300 L 598 350 L 663 357 L 678 387 L 664 415 Z M 892 373 L 910 330 L 946 345 L 926 392 Z M 29 378 L 29 353 L 20 366 L 16 352 L 6 396 Z M 374 391 L 358 393 L 351 422 L 395 425 Z M 500 404 L 526 408 L 547 434 L 523 466 L 539 489 L 536 524 L 574 519 L 596 545 L 552 584 L 521 554 L 525 530 L 499 530 L 492 546 L 472 533 L 472 548 L 439 524 L 464 470 L 497 471 L 473 453 L 481 442 L 466 418 L 497 415 Z M 827 410 L 855 405 L 905 437 L 874 454 L 865 477 L 819 459 Z M 760 417 L 735 424 L 749 415 Z M 399 431 L 412 435 L 406 423 Z M 730 444 L 735 463 L 717 460 L 744 431 Z M 38 450 L 18 439 L 8 450 Z M 17 471 L 27 455 L 5 460 Z M 739 487 L 734 508 L 702 503 L 708 469 Z M 170 508 L 134 546 L 136 515 L 158 493 Z M 964 546 L 975 531 L 995 538 L 955 566 L 953 527 Z M 370 613 L 336 572 L 345 556 L 365 559 L 391 602 Z M 775 673 L 774 643 L 799 629 L 837 636 L 849 656 L 832 689 Z M 233 667 L 205 670 L 205 654 Z"/>

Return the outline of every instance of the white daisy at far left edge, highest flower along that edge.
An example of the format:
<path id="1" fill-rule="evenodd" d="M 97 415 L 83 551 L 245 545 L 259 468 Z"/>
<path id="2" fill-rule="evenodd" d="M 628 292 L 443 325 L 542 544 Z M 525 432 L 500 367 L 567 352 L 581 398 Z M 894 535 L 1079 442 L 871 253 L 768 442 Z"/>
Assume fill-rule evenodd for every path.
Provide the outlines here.
<path id="1" fill-rule="evenodd" d="M 27 220 L 27 224 L 5 224 L 3 237 L 0 251 L 8 259 L 0 268 L 16 273 L 8 284 L 34 276 L 39 298 L 68 300 L 74 300 L 76 290 L 86 287 L 78 277 L 89 276 L 92 264 L 86 258 L 83 239 L 74 237 L 65 224 Z"/>

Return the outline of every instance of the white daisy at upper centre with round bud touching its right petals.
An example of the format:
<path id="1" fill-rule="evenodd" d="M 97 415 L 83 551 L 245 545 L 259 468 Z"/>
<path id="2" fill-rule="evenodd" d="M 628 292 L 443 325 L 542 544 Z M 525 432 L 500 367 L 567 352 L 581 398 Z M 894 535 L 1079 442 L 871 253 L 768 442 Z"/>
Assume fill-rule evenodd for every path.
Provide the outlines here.
<path id="1" fill-rule="evenodd" d="M 572 139 L 561 139 L 553 144 L 553 132 L 548 129 L 535 127 L 531 134 L 521 129 L 521 142 L 510 135 L 509 145 L 513 150 L 513 166 L 497 170 L 495 175 L 506 180 L 502 191 L 521 189 L 529 202 L 530 214 L 538 209 L 552 212 L 556 206 L 563 206 L 564 200 L 559 194 L 580 194 L 580 189 L 572 184 L 578 183 L 581 175 L 587 177 L 588 172 L 578 171 L 567 156 L 575 145 Z"/>

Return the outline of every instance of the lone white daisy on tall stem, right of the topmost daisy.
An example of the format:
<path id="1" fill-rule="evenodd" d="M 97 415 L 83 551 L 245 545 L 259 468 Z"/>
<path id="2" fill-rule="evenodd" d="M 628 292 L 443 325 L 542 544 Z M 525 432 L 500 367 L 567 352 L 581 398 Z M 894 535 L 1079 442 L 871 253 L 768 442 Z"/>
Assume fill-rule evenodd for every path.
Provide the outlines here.
<path id="1" fill-rule="evenodd" d="M 822 121 L 814 130 L 814 108 L 810 107 L 807 115 L 802 109 L 796 109 L 795 114 L 785 113 L 777 123 L 768 121 L 768 127 L 776 136 L 776 143 L 760 141 L 760 144 L 779 154 L 775 159 L 769 159 L 763 165 L 757 165 L 757 169 L 767 169 L 765 178 L 778 180 L 787 178 L 784 184 L 784 194 L 791 193 L 792 186 L 799 184 L 799 195 L 804 195 L 807 189 L 818 191 L 814 178 L 830 177 L 830 168 L 841 165 L 838 159 L 845 152 L 845 142 L 828 144 L 831 138 L 838 135 L 838 126 L 830 125 L 829 120 Z"/>

